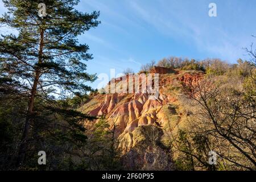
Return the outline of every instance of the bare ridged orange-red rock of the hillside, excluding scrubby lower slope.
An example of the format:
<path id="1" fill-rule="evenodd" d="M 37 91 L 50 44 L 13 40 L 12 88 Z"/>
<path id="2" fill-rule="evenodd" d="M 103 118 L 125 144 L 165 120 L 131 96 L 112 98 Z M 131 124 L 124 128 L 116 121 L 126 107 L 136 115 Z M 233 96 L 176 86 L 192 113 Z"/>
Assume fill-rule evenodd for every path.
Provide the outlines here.
<path id="1" fill-rule="evenodd" d="M 179 102 L 177 94 L 181 93 L 172 93 L 166 89 L 170 89 L 174 82 L 176 82 L 180 88 L 184 85 L 196 85 L 204 76 L 203 73 L 183 73 L 181 71 L 176 72 L 172 69 L 161 67 L 152 69 L 152 73 L 165 74 L 170 72 L 174 72 L 174 74 L 159 77 L 160 94 L 158 99 L 150 100 L 150 94 L 147 93 L 102 94 L 93 96 L 94 98 L 90 100 L 93 101 L 93 99 L 95 99 L 96 102 L 97 98 L 97 100 L 100 100 L 100 103 L 96 102 L 98 105 L 94 104 L 94 109 L 90 110 L 88 114 L 94 116 L 104 115 L 106 121 L 110 124 L 110 128 L 115 128 L 116 136 L 121 141 L 119 147 L 121 147 L 123 151 L 129 152 L 131 148 L 133 148 L 135 141 L 133 133 L 139 127 L 154 125 L 162 129 L 162 127 L 169 126 L 170 123 L 167 122 L 171 122 L 171 125 L 174 125 L 172 124 L 174 121 L 167 120 L 168 114 L 175 115 L 175 110 L 169 110 L 170 113 L 166 114 L 165 112 L 168 109 L 164 110 L 164 108 L 168 108 L 169 105 L 177 105 L 177 102 Z M 177 87 L 177 85 L 175 86 Z M 176 117 L 183 117 L 182 113 L 177 113 L 176 115 Z M 90 124 L 86 126 L 93 125 L 92 122 L 88 123 Z"/>

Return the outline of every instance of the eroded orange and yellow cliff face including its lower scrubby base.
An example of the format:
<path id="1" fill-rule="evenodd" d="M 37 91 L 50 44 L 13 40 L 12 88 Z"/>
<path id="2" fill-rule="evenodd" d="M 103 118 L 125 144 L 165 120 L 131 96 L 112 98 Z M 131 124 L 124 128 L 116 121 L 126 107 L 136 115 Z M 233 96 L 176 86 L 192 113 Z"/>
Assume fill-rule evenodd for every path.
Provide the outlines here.
<path id="1" fill-rule="evenodd" d="M 203 76 L 203 73 L 174 71 L 162 74 L 161 71 L 159 97 L 156 100 L 151 100 L 147 93 L 97 94 L 81 110 L 93 116 L 105 116 L 115 130 L 116 146 L 127 168 L 136 169 L 141 165 L 151 169 L 152 166 L 163 165 L 162 168 L 167 169 L 172 166 L 167 152 L 170 152 L 172 141 L 170 133 L 185 124 L 185 113 L 180 104 L 182 86 L 195 85 Z M 84 125 L 93 130 L 97 122 L 97 119 L 85 121 Z M 159 154 L 166 155 L 160 157 Z M 161 161 L 160 158 L 164 161 L 156 164 L 156 161 Z M 143 166 L 145 164 L 147 166 Z"/>

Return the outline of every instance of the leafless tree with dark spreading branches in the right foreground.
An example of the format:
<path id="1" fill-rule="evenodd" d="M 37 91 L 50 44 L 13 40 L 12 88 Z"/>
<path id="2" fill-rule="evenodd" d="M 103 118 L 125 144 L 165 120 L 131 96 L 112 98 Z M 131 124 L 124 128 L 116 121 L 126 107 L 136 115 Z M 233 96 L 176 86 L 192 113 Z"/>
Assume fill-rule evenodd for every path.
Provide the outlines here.
<path id="1" fill-rule="evenodd" d="M 196 108 L 190 112 L 192 131 L 212 138 L 212 148 L 221 159 L 253 170 L 256 169 L 255 96 L 248 96 L 241 85 L 238 78 L 227 81 L 214 77 L 196 85 L 184 85 L 184 89 Z"/>

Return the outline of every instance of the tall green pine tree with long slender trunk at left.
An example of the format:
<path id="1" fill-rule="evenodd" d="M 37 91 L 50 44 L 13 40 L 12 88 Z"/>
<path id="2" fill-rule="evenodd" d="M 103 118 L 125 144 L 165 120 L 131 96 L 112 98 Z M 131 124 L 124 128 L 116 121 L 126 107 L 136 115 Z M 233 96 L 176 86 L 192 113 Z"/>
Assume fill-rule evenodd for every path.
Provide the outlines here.
<path id="1" fill-rule="evenodd" d="M 3 3 L 9 11 L 0 18 L 0 24 L 14 28 L 18 35 L 1 35 L 0 80 L 8 80 L 10 88 L 15 88 L 15 93 L 28 102 L 19 147 L 21 165 L 35 122 L 35 102 L 81 96 L 91 89 L 85 82 L 94 81 L 96 76 L 86 73 L 85 61 L 92 59 L 92 55 L 88 45 L 79 44 L 78 36 L 97 27 L 99 12 L 75 10 L 79 0 Z M 40 16 L 39 3 L 46 5 L 45 16 Z"/>

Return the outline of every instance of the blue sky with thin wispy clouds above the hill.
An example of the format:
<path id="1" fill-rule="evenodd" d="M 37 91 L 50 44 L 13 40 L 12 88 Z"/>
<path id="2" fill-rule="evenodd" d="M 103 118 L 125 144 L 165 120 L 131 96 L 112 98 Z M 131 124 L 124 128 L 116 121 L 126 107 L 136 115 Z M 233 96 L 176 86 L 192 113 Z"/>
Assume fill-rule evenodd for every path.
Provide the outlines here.
<path id="1" fill-rule="evenodd" d="M 217 17 L 208 15 L 211 2 Z M 79 37 L 93 53 L 90 73 L 139 71 L 141 64 L 168 56 L 236 63 L 246 59 L 242 48 L 256 34 L 254 0 L 81 0 L 77 9 L 101 12 L 102 23 Z"/>

